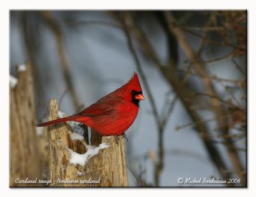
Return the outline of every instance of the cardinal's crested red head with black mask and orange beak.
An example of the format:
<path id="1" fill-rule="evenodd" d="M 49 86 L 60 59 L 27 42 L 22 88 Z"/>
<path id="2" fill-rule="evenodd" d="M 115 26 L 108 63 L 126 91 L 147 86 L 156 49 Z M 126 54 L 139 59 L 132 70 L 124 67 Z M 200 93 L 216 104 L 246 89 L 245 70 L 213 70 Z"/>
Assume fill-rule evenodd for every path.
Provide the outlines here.
<path id="1" fill-rule="evenodd" d="M 140 100 L 144 100 L 144 96 L 142 93 L 140 80 L 136 72 L 132 75 L 131 79 L 122 86 L 123 95 L 125 100 L 129 100 L 139 106 Z"/>

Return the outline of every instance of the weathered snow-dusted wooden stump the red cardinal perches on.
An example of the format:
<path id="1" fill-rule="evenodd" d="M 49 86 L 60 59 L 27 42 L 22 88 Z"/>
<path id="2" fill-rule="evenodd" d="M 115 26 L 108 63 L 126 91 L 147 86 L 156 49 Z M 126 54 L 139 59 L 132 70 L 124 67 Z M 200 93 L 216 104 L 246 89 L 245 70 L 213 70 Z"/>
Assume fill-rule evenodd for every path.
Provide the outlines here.
<path id="1" fill-rule="evenodd" d="M 50 103 L 50 118 L 60 113 L 56 100 Z M 125 139 L 92 134 L 92 145 L 76 122 L 48 127 L 49 172 L 51 187 L 126 187 L 128 186 Z M 97 139 L 93 139 L 97 138 Z M 97 141 L 98 143 L 95 143 Z"/>

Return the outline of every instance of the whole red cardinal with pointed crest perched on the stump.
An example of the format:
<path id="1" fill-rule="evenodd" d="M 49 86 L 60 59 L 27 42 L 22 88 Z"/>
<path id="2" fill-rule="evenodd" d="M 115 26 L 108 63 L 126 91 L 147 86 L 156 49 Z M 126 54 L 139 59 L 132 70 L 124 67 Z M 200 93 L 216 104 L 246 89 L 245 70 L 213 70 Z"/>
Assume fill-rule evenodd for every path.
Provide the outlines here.
<path id="1" fill-rule="evenodd" d="M 121 88 L 109 93 L 83 111 L 67 118 L 60 118 L 36 127 L 45 127 L 55 123 L 76 121 L 88 125 L 104 136 L 122 135 L 134 122 L 139 102 L 144 100 L 140 81 L 136 72 Z"/>

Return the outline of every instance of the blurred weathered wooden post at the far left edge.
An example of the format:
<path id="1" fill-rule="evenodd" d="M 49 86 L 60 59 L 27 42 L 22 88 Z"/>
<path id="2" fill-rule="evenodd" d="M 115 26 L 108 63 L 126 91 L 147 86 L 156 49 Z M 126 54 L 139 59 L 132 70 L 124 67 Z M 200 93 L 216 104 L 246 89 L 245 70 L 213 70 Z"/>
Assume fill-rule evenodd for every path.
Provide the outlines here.
<path id="1" fill-rule="evenodd" d="M 10 86 L 10 187 L 38 186 L 19 184 L 19 180 L 41 178 L 35 132 L 35 100 L 31 66 L 18 69 L 18 83 Z"/>

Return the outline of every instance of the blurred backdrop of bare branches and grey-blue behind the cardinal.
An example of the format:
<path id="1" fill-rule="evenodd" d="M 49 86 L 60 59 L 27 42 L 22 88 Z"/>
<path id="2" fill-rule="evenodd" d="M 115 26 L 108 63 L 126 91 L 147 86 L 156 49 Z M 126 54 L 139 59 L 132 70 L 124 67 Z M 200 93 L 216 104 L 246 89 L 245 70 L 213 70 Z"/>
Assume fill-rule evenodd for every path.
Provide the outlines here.
<path id="1" fill-rule="evenodd" d="M 39 123 L 50 99 L 71 115 L 136 71 L 146 99 L 126 132 L 129 185 L 244 186 L 246 24 L 239 10 L 10 11 L 10 74 L 31 63 Z"/>

